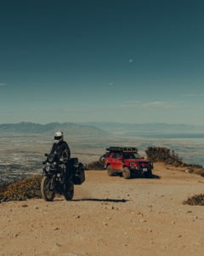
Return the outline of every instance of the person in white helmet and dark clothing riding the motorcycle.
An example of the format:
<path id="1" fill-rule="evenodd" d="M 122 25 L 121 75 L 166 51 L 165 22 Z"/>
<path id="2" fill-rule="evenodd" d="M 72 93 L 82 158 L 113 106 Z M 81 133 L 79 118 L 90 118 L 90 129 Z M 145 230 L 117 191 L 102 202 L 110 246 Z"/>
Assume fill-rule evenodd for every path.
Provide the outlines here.
<path id="1" fill-rule="evenodd" d="M 64 141 L 64 135 L 62 131 L 55 132 L 54 144 L 49 154 L 57 155 L 57 159 L 62 160 L 65 163 L 65 177 L 72 180 L 73 170 L 69 162 L 71 159 L 71 150 L 68 144 Z"/>

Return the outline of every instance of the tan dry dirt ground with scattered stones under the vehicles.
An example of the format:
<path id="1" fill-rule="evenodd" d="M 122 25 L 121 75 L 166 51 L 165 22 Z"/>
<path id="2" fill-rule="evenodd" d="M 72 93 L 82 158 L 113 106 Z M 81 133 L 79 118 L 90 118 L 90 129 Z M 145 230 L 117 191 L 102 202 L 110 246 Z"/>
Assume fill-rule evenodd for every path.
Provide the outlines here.
<path id="1" fill-rule="evenodd" d="M 0 255 L 203 255 L 204 179 L 156 164 L 160 178 L 86 172 L 73 201 L 0 204 Z"/>

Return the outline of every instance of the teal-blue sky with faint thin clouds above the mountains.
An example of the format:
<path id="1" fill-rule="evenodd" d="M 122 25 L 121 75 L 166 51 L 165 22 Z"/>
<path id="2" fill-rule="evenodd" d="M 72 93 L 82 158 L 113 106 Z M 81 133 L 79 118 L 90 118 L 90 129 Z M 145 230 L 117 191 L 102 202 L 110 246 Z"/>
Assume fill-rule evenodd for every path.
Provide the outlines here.
<path id="1" fill-rule="evenodd" d="M 0 124 L 204 125 L 202 0 L 0 1 Z"/>

